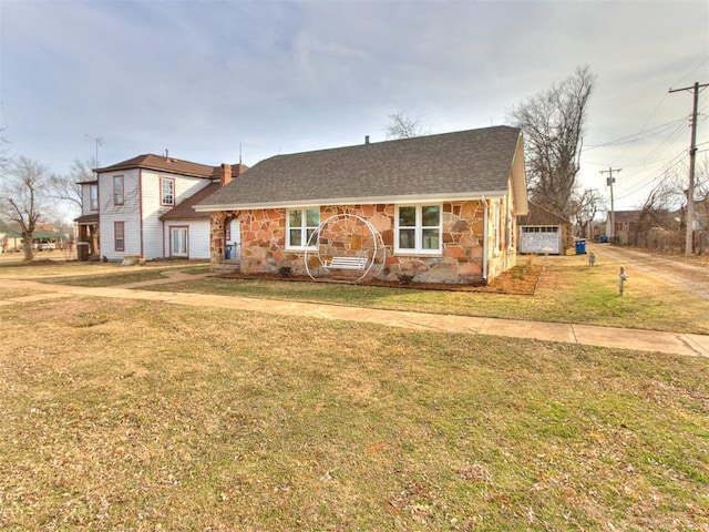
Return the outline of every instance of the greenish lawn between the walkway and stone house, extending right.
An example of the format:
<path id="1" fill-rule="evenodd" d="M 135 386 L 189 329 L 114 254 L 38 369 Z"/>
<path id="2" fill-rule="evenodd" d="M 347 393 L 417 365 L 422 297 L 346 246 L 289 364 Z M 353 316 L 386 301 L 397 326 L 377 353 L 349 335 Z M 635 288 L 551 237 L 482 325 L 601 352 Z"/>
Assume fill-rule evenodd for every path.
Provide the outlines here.
<path id="1" fill-rule="evenodd" d="M 709 334 L 709 301 L 658 283 L 647 274 L 631 272 L 620 296 L 614 265 L 590 268 L 579 257 L 535 260 L 544 264 L 544 272 L 534 295 L 216 277 L 144 289 Z"/>

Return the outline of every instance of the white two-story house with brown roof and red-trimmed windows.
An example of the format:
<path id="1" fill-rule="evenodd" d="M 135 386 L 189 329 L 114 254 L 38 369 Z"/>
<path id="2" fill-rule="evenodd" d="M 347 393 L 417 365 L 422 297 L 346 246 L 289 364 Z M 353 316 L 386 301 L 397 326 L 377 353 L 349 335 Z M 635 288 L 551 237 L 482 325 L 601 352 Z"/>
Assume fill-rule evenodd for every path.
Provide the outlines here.
<path id="1" fill-rule="evenodd" d="M 245 168 L 153 154 L 96 168 L 95 182 L 81 183 L 80 241 L 91 249 L 95 224 L 99 249 L 92 253 L 107 260 L 209 258 L 209 215 L 192 206 Z"/>

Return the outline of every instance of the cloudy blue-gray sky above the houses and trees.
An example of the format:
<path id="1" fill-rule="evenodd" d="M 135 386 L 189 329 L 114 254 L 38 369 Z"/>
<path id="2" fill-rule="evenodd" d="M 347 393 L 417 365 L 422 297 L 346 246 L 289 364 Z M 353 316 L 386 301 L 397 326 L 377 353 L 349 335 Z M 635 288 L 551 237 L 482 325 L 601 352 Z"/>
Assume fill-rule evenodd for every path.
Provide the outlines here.
<path id="1" fill-rule="evenodd" d="M 709 83 L 707 0 L 0 0 L 0 127 L 11 154 L 69 174 L 154 153 L 253 166 L 510 123 L 588 65 L 579 186 L 637 207 L 687 173 L 691 91 Z M 709 88 L 697 145 L 709 155 Z M 619 171 L 618 171 L 619 168 Z M 698 180 L 702 176 L 698 175 Z"/>

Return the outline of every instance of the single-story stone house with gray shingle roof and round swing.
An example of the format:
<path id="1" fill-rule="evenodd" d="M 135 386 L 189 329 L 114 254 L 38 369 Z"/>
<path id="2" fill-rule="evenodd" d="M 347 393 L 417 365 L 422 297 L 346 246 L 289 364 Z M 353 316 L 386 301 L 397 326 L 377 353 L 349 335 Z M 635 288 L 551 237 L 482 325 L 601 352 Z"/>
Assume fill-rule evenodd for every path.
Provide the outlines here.
<path id="1" fill-rule="evenodd" d="M 527 212 L 522 132 L 495 126 L 379 143 L 367 137 L 356 146 L 277 155 L 195 209 L 212 215 L 215 268 L 326 275 L 343 255 L 376 263 L 378 279 L 484 284 L 515 264 L 515 221 Z M 357 233 L 352 221 L 367 231 Z M 235 233 L 238 262 L 228 258 Z"/>

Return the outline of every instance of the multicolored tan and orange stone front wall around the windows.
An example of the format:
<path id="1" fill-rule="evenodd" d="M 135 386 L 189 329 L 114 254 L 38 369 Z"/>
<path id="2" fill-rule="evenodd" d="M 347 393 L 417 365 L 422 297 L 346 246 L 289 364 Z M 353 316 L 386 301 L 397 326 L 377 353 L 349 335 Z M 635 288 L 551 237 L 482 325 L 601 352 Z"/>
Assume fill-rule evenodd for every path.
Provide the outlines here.
<path id="1" fill-rule="evenodd" d="M 483 278 L 484 203 L 482 201 L 443 204 L 443 253 L 440 256 L 394 255 L 394 205 L 321 206 L 320 221 L 337 214 L 356 214 L 368 219 L 381 234 L 387 249 L 386 264 L 378 264 L 373 272 L 384 280 L 397 280 L 400 275 L 413 275 L 415 282 L 477 284 Z M 294 275 L 305 275 L 304 252 L 286 249 L 286 209 L 243 211 L 213 213 L 212 264 L 224 262 L 225 227 L 238 217 L 242 227 L 240 270 L 245 274 L 279 273 L 290 268 Z M 505 219 L 504 217 L 502 218 Z M 368 233 L 352 236 L 350 226 L 340 224 L 327 227 L 320 248 L 321 254 L 366 255 L 371 249 Z M 489 235 L 493 234 L 493 227 Z M 502 231 L 504 238 L 504 231 Z M 492 241 L 489 241 L 492 247 Z M 504 246 L 503 246 L 504 249 Z M 505 269 L 506 253 L 497 254 L 491 263 L 493 272 Z M 317 260 L 317 257 L 315 257 Z M 309 263 L 317 267 L 317 264 Z M 492 278 L 490 276 L 489 278 Z"/>

